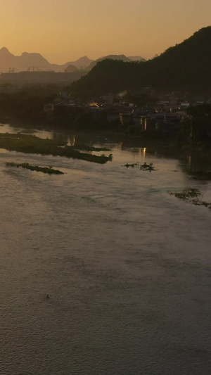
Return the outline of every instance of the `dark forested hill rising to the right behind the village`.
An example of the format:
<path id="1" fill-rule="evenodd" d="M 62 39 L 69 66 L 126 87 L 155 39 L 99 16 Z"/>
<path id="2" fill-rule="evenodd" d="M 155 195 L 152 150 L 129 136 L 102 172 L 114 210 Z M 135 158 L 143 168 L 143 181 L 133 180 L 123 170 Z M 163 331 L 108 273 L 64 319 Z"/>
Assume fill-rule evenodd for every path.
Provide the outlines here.
<path id="1" fill-rule="evenodd" d="M 71 86 L 73 94 L 139 87 L 207 89 L 211 84 L 211 26 L 146 62 L 104 60 Z"/>

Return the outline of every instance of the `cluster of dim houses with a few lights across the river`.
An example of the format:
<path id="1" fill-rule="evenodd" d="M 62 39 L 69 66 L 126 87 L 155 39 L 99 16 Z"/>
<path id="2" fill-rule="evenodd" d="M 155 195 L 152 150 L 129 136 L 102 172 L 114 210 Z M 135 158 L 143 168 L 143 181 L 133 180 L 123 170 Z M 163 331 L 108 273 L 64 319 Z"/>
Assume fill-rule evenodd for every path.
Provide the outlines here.
<path id="1" fill-rule="evenodd" d="M 117 98 L 114 94 L 104 94 L 97 101 L 82 103 L 81 100 L 70 98 L 68 93 L 60 92 L 53 103 L 44 106 L 44 111 L 52 113 L 58 106 L 66 107 L 70 111 L 72 108 L 81 108 L 92 113 L 95 120 L 100 121 L 101 117 L 106 116 L 107 122 L 111 125 L 119 123 L 124 127 L 139 127 L 146 132 L 174 133 L 177 132 L 181 120 L 187 116 L 186 108 L 194 104 L 196 101 L 181 102 L 174 96 L 163 95 L 158 101 L 139 107 Z"/>

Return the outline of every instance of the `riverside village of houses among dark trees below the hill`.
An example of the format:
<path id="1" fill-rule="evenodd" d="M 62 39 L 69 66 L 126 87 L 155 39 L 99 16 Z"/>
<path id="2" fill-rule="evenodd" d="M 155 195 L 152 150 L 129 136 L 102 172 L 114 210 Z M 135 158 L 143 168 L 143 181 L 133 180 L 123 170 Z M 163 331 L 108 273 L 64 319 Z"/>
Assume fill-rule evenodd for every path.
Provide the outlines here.
<path id="1" fill-rule="evenodd" d="M 61 91 L 53 103 L 44 105 L 46 118 L 53 118 L 56 113 L 72 116 L 74 112 L 87 113 L 96 124 L 101 127 L 101 122 L 106 122 L 109 127 L 124 127 L 131 132 L 161 132 L 163 134 L 175 134 L 179 124 L 188 115 L 186 109 L 205 103 L 204 98 L 194 98 L 191 101 L 183 98 L 184 101 L 174 94 L 155 93 L 154 89 L 141 89 L 142 96 L 152 98 L 143 105 L 132 103 L 127 99 L 127 93 L 95 96 L 94 100 L 82 101 L 72 98 L 68 92 Z"/>

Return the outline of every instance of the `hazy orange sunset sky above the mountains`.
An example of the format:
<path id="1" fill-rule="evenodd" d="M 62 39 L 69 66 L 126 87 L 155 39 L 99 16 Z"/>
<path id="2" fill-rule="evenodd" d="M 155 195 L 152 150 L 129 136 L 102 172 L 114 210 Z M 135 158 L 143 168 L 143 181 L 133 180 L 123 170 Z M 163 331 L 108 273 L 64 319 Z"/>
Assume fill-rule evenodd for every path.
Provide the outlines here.
<path id="1" fill-rule="evenodd" d="M 50 63 L 151 58 L 211 25 L 211 0 L 0 0 L 0 48 Z"/>

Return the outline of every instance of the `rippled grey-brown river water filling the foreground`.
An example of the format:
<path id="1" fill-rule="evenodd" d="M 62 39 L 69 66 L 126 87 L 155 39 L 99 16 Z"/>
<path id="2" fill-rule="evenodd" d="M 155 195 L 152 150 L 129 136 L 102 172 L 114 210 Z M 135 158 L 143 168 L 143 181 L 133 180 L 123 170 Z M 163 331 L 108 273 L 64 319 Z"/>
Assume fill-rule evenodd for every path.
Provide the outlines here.
<path id="1" fill-rule="evenodd" d="M 109 146 L 106 165 L 0 150 L 0 374 L 211 373 L 211 212 L 168 193 L 210 183 Z"/>

